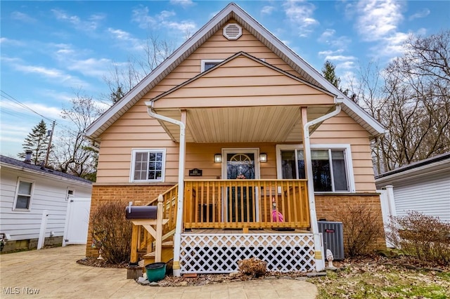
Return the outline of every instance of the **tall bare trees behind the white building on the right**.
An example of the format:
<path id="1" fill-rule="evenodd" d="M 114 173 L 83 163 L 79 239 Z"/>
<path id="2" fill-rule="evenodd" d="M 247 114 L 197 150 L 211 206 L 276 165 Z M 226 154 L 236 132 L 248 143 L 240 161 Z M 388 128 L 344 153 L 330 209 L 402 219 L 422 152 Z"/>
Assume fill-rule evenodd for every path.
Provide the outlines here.
<path id="1" fill-rule="evenodd" d="M 385 70 L 386 170 L 450 150 L 450 31 L 404 46 Z"/>

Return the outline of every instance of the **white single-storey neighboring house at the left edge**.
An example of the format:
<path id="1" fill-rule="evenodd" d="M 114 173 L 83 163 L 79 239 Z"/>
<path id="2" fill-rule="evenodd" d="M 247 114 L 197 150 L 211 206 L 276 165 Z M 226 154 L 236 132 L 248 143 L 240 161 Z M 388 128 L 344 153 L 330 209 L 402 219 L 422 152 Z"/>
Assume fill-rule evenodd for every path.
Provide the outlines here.
<path id="1" fill-rule="evenodd" d="M 70 223 L 68 215 L 74 213 L 70 203 L 89 201 L 90 206 L 91 181 L 1 155 L 0 178 L 0 234 L 8 239 L 4 252 L 62 244 L 70 227 L 86 227 L 86 244 L 89 210 Z"/>

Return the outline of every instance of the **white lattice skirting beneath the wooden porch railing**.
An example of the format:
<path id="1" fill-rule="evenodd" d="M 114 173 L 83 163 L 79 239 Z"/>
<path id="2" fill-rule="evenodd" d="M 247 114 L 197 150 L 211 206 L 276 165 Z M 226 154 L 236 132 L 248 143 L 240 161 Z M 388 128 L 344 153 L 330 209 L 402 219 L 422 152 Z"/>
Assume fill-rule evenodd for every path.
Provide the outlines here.
<path id="1" fill-rule="evenodd" d="M 181 234 L 181 273 L 231 273 L 259 258 L 278 272 L 314 271 L 313 234 Z"/>

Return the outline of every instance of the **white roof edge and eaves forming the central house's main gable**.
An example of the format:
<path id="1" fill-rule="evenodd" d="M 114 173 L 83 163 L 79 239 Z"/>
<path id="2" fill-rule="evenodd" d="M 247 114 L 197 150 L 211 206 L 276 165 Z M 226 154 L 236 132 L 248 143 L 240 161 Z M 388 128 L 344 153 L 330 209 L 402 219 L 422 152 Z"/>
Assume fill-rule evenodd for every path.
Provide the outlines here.
<path id="1" fill-rule="evenodd" d="M 314 67 L 300 58 L 288 46 L 271 34 L 259 22 L 253 19 L 248 13 L 243 11 L 237 4 L 231 3 L 222 11 L 217 13 L 206 25 L 196 32 L 190 39 L 182 44 L 172 55 L 163 61 L 158 67 L 153 69 L 139 84 L 134 86 L 124 97 L 115 103 L 110 109 L 101 115 L 94 123 L 86 129 L 86 136 L 89 138 L 99 138 L 101 133 L 119 119 L 128 109 L 138 102 L 143 95 L 146 95 L 155 87 L 167 74 L 172 72 L 181 62 L 188 58 L 197 48 L 229 20 L 236 20 L 241 26 L 256 36 L 265 46 L 278 55 L 290 67 L 293 67 L 306 81 L 319 86 L 330 93 L 338 95 L 338 102 L 342 102 L 342 110 L 349 114 L 355 121 L 363 126 L 371 135 L 378 136 L 385 133 L 385 128 L 373 117 L 364 111 L 359 105 L 350 100 L 338 88 L 325 79 Z"/>

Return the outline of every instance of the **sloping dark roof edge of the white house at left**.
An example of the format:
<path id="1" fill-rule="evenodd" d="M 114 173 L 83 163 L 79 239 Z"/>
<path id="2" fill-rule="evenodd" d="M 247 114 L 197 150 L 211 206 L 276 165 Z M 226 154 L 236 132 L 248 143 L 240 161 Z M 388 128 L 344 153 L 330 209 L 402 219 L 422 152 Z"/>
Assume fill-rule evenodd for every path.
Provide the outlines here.
<path id="1" fill-rule="evenodd" d="M 58 178 L 65 179 L 65 180 L 75 180 L 75 181 L 77 181 L 79 183 L 83 183 L 83 184 L 89 184 L 89 185 L 92 184 L 92 182 L 90 180 L 86 180 L 84 178 L 79 178 L 75 175 L 70 175 L 68 173 L 62 173 L 60 171 L 53 171 L 49 168 L 45 168 L 44 166 L 26 163 L 24 161 L 20 161 L 20 160 L 6 157 L 3 155 L 0 155 L 0 165 L 1 165 L 1 167 L 28 171 L 31 173 L 36 173 L 37 175 L 50 175 L 50 176 L 53 176 L 53 177 L 56 176 Z"/>

